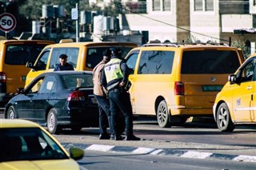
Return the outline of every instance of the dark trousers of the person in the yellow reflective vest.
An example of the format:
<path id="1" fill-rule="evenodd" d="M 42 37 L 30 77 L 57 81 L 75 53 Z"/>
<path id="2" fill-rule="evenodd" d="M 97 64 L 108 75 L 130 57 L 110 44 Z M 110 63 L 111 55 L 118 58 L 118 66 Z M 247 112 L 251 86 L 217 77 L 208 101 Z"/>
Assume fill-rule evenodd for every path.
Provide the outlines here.
<path id="1" fill-rule="evenodd" d="M 130 94 L 124 89 L 112 89 L 109 91 L 109 98 L 114 134 L 120 135 L 118 113 L 121 111 L 125 117 L 126 136 L 133 135 L 133 111 L 130 103 Z"/>

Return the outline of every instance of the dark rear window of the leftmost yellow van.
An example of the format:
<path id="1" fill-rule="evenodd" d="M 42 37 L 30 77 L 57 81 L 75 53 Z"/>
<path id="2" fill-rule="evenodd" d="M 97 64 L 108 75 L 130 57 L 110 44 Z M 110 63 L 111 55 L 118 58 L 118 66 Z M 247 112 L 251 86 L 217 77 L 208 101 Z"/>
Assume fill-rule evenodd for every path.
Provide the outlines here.
<path id="1" fill-rule="evenodd" d="M 7 65 L 26 65 L 27 61 L 34 63 L 45 46 L 40 44 L 7 45 L 5 63 Z"/>

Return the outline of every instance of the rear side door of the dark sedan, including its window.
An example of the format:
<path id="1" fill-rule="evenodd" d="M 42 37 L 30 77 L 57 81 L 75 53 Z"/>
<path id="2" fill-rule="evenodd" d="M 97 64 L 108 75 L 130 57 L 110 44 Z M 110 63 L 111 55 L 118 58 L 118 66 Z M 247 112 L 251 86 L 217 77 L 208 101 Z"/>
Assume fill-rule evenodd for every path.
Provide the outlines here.
<path id="1" fill-rule="evenodd" d="M 37 95 L 33 98 L 34 117 L 37 122 L 46 122 L 46 109 L 49 107 L 50 96 L 55 93 L 56 82 L 54 76 L 45 77 Z"/>

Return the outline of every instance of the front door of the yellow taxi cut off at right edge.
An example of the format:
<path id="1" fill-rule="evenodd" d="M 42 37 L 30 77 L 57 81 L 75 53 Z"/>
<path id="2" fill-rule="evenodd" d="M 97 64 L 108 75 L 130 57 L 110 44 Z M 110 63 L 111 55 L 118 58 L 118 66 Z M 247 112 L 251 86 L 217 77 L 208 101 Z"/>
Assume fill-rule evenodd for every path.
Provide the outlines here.
<path id="1" fill-rule="evenodd" d="M 240 83 L 234 84 L 232 100 L 235 122 L 250 122 L 254 117 L 254 107 L 256 106 L 254 95 L 255 65 L 256 57 L 246 62 L 238 71 Z"/>

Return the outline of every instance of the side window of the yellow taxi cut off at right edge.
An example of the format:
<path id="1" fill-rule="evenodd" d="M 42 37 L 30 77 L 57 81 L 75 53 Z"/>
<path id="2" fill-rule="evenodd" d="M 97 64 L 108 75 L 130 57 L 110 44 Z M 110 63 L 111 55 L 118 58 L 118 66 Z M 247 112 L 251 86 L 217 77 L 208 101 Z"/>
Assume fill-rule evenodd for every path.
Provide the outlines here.
<path id="1" fill-rule="evenodd" d="M 241 82 L 255 81 L 255 65 L 256 58 L 254 58 L 254 60 L 249 61 L 242 69 L 240 69 Z"/>

